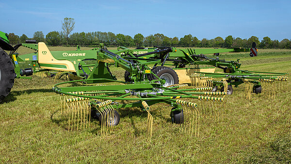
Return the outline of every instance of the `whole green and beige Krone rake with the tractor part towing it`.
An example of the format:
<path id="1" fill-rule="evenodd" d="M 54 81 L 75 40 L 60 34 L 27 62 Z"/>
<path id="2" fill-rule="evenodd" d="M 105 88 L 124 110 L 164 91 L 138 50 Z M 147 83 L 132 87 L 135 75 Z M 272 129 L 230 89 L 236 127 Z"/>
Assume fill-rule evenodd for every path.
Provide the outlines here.
<path id="1" fill-rule="evenodd" d="M 224 98 L 232 94 L 232 86 L 245 83 L 245 96 L 263 93 L 275 97 L 275 82 L 286 82 L 286 73 L 255 72 L 241 70 L 238 61 L 209 58 L 206 54 L 222 52 L 248 52 L 257 56 L 256 45 L 251 49 L 176 49 L 171 47 L 128 49 L 118 47 L 50 51 L 45 43 L 9 45 L 7 35 L 1 35 L 0 49 L 0 100 L 5 98 L 15 78 L 31 78 L 32 74 L 47 77 L 62 72 L 71 81 L 55 84 L 52 89 L 60 95 L 61 112 L 67 115 L 67 130 L 83 129 L 92 118 L 101 124 L 104 137 L 119 123 L 118 109 L 140 107 L 148 114 L 147 136 L 151 140 L 153 117 L 150 106 L 166 103 L 171 106 L 173 123 L 181 124 L 181 131 L 199 135 L 200 115 L 222 117 Z M 20 47 L 34 49 L 29 54 L 17 54 Z M 7 54 L 4 50 L 11 50 Z M 90 61 L 90 64 L 86 64 Z M 30 62 L 30 68 L 20 68 L 18 62 Z M 209 67 L 199 67 L 199 66 Z M 110 66 L 125 70 L 125 80 L 120 81 L 110 71 Z M 215 68 L 223 73 L 215 73 Z M 70 85 L 80 82 L 80 86 Z M 266 89 L 262 89 L 261 85 Z M 221 92 L 217 88 L 221 87 Z"/>

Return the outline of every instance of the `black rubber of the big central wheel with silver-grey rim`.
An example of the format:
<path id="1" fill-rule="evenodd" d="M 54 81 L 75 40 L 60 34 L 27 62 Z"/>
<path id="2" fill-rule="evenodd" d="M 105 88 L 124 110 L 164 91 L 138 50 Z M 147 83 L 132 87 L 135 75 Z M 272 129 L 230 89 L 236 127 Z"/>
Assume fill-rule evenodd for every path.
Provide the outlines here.
<path id="1" fill-rule="evenodd" d="M 156 74 L 159 78 L 163 75 L 163 74 L 170 74 L 173 79 L 174 79 L 174 82 L 173 84 L 178 84 L 179 83 L 179 78 L 178 78 L 178 75 L 177 73 L 170 67 L 167 67 L 167 66 L 157 66 L 155 67 L 152 72 L 154 74 Z M 152 75 L 152 79 L 151 80 L 156 80 L 157 78 L 155 76 Z M 169 85 L 165 85 L 163 84 L 162 86 L 164 87 L 167 87 Z"/>

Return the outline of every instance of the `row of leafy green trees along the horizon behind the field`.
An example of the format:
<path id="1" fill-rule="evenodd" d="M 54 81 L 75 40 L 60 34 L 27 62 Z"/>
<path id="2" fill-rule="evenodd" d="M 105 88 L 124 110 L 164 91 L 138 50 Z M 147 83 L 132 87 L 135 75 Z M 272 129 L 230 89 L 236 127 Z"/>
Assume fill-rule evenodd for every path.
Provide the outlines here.
<path id="1" fill-rule="evenodd" d="M 266 36 L 263 40 L 259 41 L 256 36 L 251 36 L 248 39 L 242 39 L 240 37 L 227 36 L 225 39 L 218 36 L 214 39 L 202 40 L 191 34 L 185 35 L 178 39 L 178 37 L 167 37 L 162 33 L 150 34 L 144 36 L 141 33 L 135 34 L 132 38 L 129 35 L 122 33 L 112 32 L 89 32 L 89 33 L 72 33 L 68 35 L 65 32 L 49 32 L 46 36 L 43 32 L 38 31 L 33 34 L 32 38 L 22 34 L 20 37 L 14 33 L 9 33 L 9 41 L 11 44 L 16 45 L 19 43 L 25 43 L 26 39 L 34 39 L 36 42 L 45 42 L 49 46 L 86 46 L 86 47 L 98 47 L 99 43 L 104 43 L 107 47 L 153 47 L 153 46 L 166 46 L 166 47 L 198 47 L 198 48 L 228 48 L 228 47 L 242 47 L 250 48 L 252 43 L 257 44 L 257 48 L 260 49 L 291 49 L 291 40 L 283 39 L 280 42 L 278 40 L 271 40 Z"/>

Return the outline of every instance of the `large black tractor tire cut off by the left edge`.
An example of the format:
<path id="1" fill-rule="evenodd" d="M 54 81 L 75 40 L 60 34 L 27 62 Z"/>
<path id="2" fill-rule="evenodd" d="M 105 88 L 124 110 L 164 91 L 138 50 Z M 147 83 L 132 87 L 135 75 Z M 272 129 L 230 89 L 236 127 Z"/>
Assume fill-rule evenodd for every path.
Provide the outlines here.
<path id="1" fill-rule="evenodd" d="M 0 102 L 10 93 L 14 79 L 14 65 L 9 55 L 0 48 Z"/>

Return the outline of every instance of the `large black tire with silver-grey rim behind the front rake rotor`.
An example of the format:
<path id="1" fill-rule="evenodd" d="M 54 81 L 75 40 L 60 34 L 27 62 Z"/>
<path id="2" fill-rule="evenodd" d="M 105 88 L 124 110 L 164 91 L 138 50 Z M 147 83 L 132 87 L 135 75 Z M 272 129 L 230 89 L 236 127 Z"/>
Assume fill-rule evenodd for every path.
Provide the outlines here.
<path id="1" fill-rule="evenodd" d="M 159 78 L 166 80 L 166 83 L 162 85 L 164 87 L 178 84 L 179 82 L 177 73 L 172 68 L 169 68 L 167 66 L 157 66 L 152 70 L 152 72 L 156 74 Z M 157 78 L 152 75 L 151 80 L 153 79 L 157 79 Z"/>

